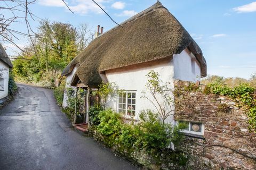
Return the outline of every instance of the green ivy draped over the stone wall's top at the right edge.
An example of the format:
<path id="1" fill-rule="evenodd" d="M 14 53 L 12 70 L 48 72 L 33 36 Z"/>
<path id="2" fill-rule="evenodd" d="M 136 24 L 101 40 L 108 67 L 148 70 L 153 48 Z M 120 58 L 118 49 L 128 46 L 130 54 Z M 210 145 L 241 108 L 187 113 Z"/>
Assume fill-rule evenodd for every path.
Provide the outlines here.
<path id="1" fill-rule="evenodd" d="M 256 132 L 256 88 L 249 83 L 241 83 L 234 88 L 229 88 L 223 84 L 208 84 L 206 86 L 211 93 L 228 96 L 236 100 L 239 106 L 247 110 L 249 130 Z"/>

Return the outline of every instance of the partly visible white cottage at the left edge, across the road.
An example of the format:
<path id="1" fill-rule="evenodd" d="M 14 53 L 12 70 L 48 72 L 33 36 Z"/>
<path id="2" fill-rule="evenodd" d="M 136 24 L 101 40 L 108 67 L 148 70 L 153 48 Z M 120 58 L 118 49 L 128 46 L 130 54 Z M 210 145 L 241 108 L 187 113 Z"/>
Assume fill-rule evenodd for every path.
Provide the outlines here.
<path id="1" fill-rule="evenodd" d="M 12 62 L 0 44 L 0 103 L 8 95 L 9 69 L 12 68 Z"/>

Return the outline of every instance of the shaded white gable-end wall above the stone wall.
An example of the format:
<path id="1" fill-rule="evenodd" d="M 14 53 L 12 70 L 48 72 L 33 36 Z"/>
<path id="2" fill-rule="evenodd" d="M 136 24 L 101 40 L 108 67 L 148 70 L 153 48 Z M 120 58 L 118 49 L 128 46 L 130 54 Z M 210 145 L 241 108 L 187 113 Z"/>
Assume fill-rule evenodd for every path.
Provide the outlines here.
<path id="1" fill-rule="evenodd" d="M 192 72 L 191 59 L 195 62 L 195 73 Z M 200 81 L 201 69 L 195 56 L 185 49 L 173 57 L 174 79 L 183 81 Z"/>

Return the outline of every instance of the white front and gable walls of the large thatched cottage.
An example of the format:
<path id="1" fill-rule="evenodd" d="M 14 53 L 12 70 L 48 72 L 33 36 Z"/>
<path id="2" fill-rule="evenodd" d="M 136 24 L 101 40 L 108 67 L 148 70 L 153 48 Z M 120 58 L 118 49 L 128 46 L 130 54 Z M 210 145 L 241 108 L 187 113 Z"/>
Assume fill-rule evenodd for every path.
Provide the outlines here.
<path id="1" fill-rule="evenodd" d="M 191 62 L 194 62 L 194 71 L 192 71 L 193 66 Z M 170 82 L 171 88 L 173 88 L 173 81 L 175 79 L 196 82 L 199 81 L 201 77 L 199 63 L 188 49 L 183 50 L 180 54 L 174 55 L 171 59 L 169 58 L 166 60 L 106 71 L 105 73 L 108 81 L 116 83 L 119 89 L 136 91 L 135 119 L 139 118 L 140 111 L 144 109 L 156 110 L 150 101 L 142 98 L 143 91 L 146 92 L 147 97 L 151 97 L 149 91 L 146 90 L 145 87 L 148 81 L 146 75 L 150 70 L 158 72 L 160 75 L 159 78 L 163 83 Z M 111 97 L 107 103 L 107 107 L 111 107 L 117 111 L 117 96 Z M 174 109 L 174 105 L 172 106 L 172 109 Z M 173 116 L 167 118 L 166 122 L 173 123 Z"/>

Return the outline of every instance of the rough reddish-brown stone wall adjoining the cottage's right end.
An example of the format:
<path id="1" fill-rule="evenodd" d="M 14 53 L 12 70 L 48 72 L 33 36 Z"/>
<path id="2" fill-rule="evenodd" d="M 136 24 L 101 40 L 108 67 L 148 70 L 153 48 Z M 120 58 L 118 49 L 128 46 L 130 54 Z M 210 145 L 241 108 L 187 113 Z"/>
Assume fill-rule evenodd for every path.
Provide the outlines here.
<path id="1" fill-rule="evenodd" d="M 175 82 L 177 87 L 188 82 Z M 243 108 L 223 96 L 203 94 L 199 90 L 179 89 L 175 98 L 175 120 L 204 123 L 202 137 L 187 136 L 182 150 L 189 155 L 190 169 L 256 169 L 256 135 L 247 130 Z"/>

